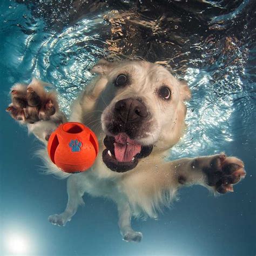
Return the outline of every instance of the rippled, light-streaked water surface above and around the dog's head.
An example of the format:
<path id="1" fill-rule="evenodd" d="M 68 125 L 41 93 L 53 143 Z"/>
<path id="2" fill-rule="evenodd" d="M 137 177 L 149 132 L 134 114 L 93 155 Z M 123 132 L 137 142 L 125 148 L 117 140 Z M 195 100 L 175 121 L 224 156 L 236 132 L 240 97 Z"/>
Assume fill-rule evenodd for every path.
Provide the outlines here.
<path id="1" fill-rule="evenodd" d="M 172 157 L 219 152 L 235 132 L 252 131 L 255 9 L 249 0 L 10 2 L 2 18 L 23 43 L 8 69 L 21 72 L 22 81 L 35 76 L 55 85 L 69 114 L 97 59 L 159 63 L 187 80 L 193 96 Z"/>

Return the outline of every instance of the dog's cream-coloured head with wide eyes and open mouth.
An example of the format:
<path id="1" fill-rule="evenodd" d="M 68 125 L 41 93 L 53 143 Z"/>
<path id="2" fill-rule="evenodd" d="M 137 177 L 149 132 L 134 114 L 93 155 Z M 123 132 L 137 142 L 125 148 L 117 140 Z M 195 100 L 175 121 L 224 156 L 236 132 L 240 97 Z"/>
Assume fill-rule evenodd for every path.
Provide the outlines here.
<path id="1" fill-rule="evenodd" d="M 92 69 L 100 74 L 96 86 L 102 129 L 106 134 L 103 161 L 109 169 L 125 172 L 153 146 L 166 150 L 176 144 L 184 130 L 190 98 L 186 83 L 174 78 L 163 66 L 149 62 L 100 62 Z"/>

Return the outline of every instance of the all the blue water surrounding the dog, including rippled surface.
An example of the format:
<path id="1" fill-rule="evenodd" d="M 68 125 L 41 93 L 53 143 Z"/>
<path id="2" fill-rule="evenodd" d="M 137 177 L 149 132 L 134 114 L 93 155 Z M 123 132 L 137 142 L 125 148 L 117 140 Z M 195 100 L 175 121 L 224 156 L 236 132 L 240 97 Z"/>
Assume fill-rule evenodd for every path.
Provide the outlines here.
<path id="1" fill-rule="evenodd" d="M 255 255 L 255 1 L 76 2 L 0 4 L 0 255 L 22 254 L 19 240 L 24 255 Z M 133 220 L 140 244 L 122 241 L 111 201 L 87 195 L 70 223 L 52 226 L 65 180 L 40 173 L 40 144 L 5 112 L 10 87 L 38 77 L 69 114 L 104 56 L 161 62 L 187 80 L 188 129 L 170 159 L 225 151 L 247 171 L 234 193 L 184 188 L 157 221 Z"/>

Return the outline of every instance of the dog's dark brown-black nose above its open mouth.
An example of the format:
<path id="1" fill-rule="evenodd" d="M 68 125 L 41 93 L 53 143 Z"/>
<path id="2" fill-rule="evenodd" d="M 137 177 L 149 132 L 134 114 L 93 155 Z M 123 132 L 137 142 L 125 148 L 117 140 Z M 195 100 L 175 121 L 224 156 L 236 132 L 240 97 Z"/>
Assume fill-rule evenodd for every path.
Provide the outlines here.
<path id="1" fill-rule="evenodd" d="M 137 122 L 148 115 L 146 106 L 138 99 L 119 100 L 114 106 L 114 111 L 125 123 Z"/>

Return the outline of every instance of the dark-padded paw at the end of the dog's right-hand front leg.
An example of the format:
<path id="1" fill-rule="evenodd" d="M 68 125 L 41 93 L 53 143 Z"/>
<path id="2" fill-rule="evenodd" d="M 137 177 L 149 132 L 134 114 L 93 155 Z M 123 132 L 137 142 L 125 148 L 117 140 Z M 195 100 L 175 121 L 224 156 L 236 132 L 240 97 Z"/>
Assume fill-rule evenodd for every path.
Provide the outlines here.
<path id="1" fill-rule="evenodd" d="M 226 157 L 225 154 L 215 155 L 210 164 L 203 168 L 207 185 L 224 194 L 233 192 L 233 184 L 238 183 L 246 175 L 244 163 L 236 157 Z"/>

